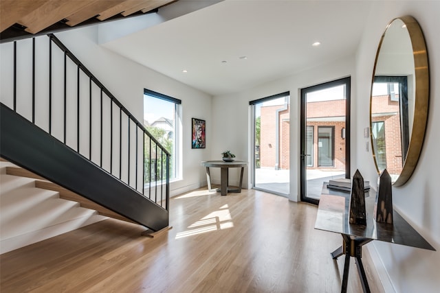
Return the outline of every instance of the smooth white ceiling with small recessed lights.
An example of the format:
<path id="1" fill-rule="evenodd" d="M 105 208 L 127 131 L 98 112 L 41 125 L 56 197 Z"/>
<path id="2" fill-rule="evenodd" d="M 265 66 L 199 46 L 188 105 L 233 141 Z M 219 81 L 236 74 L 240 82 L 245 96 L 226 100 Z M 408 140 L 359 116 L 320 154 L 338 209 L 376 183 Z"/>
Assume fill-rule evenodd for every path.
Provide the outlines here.
<path id="1" fill-rule="evenodd" d="M 225 0 L 103 45 L 223 95 L 352 56 L 372 2 Z M 316 41 L 321 45 L 312 47 Z"/>

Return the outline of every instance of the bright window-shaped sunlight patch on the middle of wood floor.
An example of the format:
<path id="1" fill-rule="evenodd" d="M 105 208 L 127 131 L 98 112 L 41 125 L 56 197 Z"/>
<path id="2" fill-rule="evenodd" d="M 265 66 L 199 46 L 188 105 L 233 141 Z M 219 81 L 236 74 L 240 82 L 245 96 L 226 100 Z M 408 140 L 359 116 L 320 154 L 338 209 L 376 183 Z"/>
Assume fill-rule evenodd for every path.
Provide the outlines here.
<path id="1" fill-rule="evenodd" d="M 187 231 L 177 233 L 175 239 L 184 238 L 212 231 L 233 228 L 234 223 L 229 211 L 228 204 L 223 205 L 217 211 L 209 213 L 200 220 L 190 224 Z"/>

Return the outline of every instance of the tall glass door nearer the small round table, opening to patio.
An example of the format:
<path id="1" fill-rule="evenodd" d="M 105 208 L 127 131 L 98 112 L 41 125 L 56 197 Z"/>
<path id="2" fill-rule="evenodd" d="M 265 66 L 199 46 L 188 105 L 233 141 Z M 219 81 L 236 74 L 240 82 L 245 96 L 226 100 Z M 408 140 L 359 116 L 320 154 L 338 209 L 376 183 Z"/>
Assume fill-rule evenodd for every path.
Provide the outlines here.
<path id="1" fill-rule="evenodd" d="M 289 195 L 289 93 L 251 101 L 254 120 L 254 189 Z"/>

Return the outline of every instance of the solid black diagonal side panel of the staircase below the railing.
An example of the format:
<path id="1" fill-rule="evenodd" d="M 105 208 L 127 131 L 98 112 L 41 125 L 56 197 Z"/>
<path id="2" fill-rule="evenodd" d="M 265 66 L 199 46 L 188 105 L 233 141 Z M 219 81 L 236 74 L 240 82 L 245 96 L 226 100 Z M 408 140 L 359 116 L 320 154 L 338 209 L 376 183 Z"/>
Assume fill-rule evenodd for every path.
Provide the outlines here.
<path id="1" fill-rule="evenodd" d="M 0 106 L 0 154 L 4 159 L 153 231 L 168 226 L 166 209 L 120 182 L 7 106 Z"/>

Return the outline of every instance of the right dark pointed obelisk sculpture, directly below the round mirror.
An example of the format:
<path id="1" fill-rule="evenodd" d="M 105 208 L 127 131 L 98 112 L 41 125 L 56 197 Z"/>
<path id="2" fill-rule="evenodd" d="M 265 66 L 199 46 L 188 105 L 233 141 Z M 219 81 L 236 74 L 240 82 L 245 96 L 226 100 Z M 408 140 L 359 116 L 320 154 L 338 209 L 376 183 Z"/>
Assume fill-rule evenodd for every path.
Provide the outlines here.
<path id="1" fill-rule="evenodd" d="M 377 222 L 393 224 L 393 191 L 391 189 L 391 176 L 386 169 L 380 174 L 377 183 L 373 215 Z"/>

